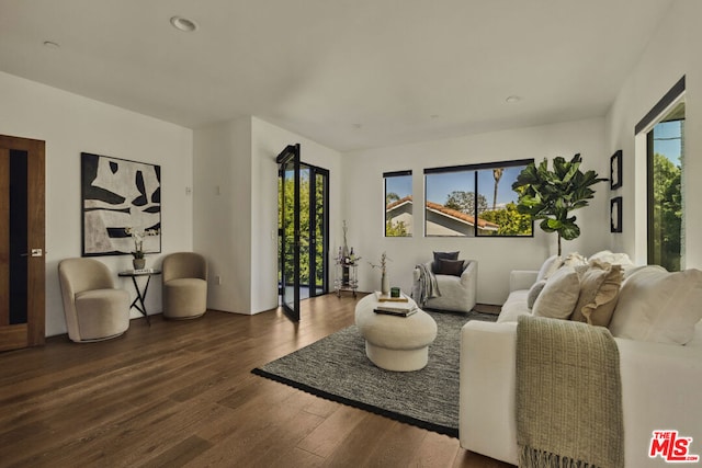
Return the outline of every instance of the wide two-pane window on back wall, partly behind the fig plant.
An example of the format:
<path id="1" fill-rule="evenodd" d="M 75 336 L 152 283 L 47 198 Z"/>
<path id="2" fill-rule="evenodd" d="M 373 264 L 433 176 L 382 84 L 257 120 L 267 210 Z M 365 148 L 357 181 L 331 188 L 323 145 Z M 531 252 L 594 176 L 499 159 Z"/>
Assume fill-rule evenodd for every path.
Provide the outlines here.
<path id="1" fill-rule="evenodd" d="M 512 183 L 533 160 L 424 170 L 426 236 L 532 236 Z"/>

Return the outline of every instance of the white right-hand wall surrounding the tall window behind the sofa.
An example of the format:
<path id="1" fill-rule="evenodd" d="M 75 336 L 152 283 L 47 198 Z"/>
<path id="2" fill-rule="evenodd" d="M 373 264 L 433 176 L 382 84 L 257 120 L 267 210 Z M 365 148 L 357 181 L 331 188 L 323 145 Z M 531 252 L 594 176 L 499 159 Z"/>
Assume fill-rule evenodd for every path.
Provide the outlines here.
<path id="1" fill-rule="evenodd" d="M 611 194 L 623 197 L 623 232 L 611 235 L 614 249 L 646 263 L 646 157 L 635 153 L 634 126 L 686 76 L 686 266 L 702 267 L 702 2 L 675 2 L 652 37 L 642 59 L 618 94 L 607 117 L 607 149 L 623 150 L 623 186 Z"/>

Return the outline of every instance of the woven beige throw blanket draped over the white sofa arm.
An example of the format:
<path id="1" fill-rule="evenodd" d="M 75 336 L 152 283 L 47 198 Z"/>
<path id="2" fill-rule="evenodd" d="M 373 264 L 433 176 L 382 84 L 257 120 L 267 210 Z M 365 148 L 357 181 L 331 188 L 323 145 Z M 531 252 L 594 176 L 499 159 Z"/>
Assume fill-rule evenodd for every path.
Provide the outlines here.
<path id="1" fill-rule="evenodd" d="M 520 467 L 623 467 L 621 401 L 619 350 L 608 329 L 519 318 Z"/>

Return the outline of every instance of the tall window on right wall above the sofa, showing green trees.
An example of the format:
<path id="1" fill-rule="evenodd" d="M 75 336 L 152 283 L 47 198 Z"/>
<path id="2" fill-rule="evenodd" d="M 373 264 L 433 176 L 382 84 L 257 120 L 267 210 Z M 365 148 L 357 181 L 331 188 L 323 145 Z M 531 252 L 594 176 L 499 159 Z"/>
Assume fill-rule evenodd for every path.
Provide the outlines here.
<path id="1" fill-rule="evenodd" d="M 670 272 L 684 269 L 683 94 L 684 78 L 636 126 L 646 135 L 648 263 Z"/>

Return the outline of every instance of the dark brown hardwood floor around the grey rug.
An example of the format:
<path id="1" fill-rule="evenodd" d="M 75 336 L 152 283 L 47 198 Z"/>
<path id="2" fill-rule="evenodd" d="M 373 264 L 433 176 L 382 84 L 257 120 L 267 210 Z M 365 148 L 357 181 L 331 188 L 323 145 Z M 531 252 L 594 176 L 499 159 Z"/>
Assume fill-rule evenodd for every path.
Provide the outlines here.
<path id="1" fill-rule="evenodd" d="M 356 299 L 133 320 L 125 335 L 0 353 L 2 467 L 510 467 L 458 441 L 254 376 L 353 323 Z"/>

